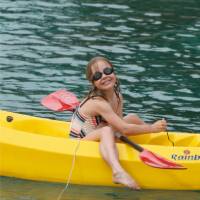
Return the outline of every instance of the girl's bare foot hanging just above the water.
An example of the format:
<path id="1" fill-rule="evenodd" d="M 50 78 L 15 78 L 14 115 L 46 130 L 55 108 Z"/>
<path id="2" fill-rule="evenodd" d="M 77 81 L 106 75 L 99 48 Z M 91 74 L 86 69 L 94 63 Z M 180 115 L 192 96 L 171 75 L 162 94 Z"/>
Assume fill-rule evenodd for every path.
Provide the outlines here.
<path id="1" fill-rule="evenodd" d="M 134 190 L 140 190 L 139 185 L 133 180 L 133 178 L 123 171 L 113 174 L 113 182 L 125 185 Z"/>

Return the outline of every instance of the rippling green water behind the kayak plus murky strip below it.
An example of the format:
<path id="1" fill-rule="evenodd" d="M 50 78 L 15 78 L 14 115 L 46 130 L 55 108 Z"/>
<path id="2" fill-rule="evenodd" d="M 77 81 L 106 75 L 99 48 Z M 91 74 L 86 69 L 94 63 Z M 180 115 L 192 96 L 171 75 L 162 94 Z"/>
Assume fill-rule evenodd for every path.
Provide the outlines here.
<path id="1" fill-rule="evenodd" d="M 200 132 L 200 1 L 0 1 L 0 109 L 70 120 L 40 99 L 88 91 L 85 65 L 108 57 L 121 81 L 125 113 L 169 130 Z M 139 173 L 139 172 L 138 172 Z M 1 199 L 55 199 L 64 185 L 1 178 Z M 51 197 L 52 195 L 52 197 Z M 132 192 L 71 186 L 64 199 L 200 199 L 197 192 Z M 54 197 L 54 198 L 53 198 Z"/>

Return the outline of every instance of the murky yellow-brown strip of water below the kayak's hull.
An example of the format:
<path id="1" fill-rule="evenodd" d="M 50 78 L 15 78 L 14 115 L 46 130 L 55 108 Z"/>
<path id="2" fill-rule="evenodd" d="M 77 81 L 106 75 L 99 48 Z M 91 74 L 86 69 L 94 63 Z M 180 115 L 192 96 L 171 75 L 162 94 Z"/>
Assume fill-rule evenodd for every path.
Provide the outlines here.
<path id="1" fill-rule="evenodd" d="M 65 187 L 64 184 L 24 181 L 0 178 L 2 200 L 56 200 Z M 199 191 L 132 191 L 126 188 L 86 187 L 70 185 L 62 200 L 199 200 Z"/>

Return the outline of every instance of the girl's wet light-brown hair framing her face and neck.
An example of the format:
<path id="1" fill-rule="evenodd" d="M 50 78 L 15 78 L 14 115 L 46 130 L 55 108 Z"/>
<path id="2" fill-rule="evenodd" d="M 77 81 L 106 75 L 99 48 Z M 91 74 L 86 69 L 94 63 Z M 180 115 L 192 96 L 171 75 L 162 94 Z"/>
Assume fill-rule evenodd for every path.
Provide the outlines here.
<path id="1" fill-rule="evenodd" d="M 97 57 L 92 58 L 89 61 L 87 68 L 86 68 L 86 78 L 92 83 L 92 85 L 91 85 L 91 89 L 90 89 L 89 93 L 86 96 L 86 101 L 91 99 L 91 98 L 94 98 L 94 97 L 102 97 L 105 100 L 107 100 L 106 97 L 101 92 L 101 90 L 99 90 L 94 85 L 94 81 L 92 80 L 92 76 L 93 76 L 92 68 L 95 67 L 95 66 L 98 66 L 99 61 L 103 61 L 103 62 L 107 63 L 110 67 L 113 68 L 112 63 L 105 57 L 97 56 Z M 118 78 L 116 78 L 116 83 L 114 85 L 114 92 L 115 92 L 115 94 L 118 98 L 118 104 L 119 104 L 120 103 L 120 83 L 119 83 Z"/>

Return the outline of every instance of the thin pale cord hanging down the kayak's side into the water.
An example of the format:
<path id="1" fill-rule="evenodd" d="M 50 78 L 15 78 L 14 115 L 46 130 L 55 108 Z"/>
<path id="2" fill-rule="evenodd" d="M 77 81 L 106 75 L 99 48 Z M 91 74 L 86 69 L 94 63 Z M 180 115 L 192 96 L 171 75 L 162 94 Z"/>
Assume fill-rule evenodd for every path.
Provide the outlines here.
<path id="1" fill-rule="evenodd" d="M 73 160 L 72 160 L 72 166 L 71 166 L 71 169 L 70 169 L 70 172 L 69 172 L 69 175 L 68 175 L 68 178 L 67 178 L 67 183 L 64 187 L 64 189 L 59 193 L 58 197 L 56 200 L 60 200 L 64 194 L 64 192 L 68 189 L 68 186 L 69 186 L 69 183 L 70 183 L 70 180 L 71 180 L 71 176 L 72 176 L 72 173 L 73 173 L 73 170 L 74 170 L 74 166 L 75 166 L 75 163 L 76 163 L 76 153 L 79 149 L 79 146 L 80 146 L 80 139 L 78 139 L 78 143 L 76 145 L 76 148 L 74 150 L 74 155 L 73 155 Z"/>

